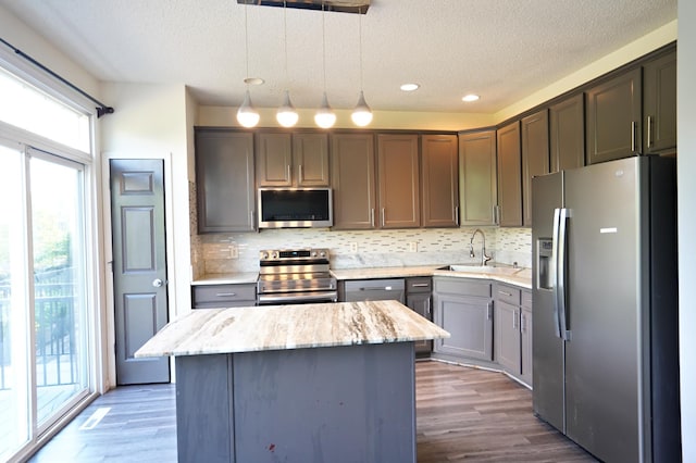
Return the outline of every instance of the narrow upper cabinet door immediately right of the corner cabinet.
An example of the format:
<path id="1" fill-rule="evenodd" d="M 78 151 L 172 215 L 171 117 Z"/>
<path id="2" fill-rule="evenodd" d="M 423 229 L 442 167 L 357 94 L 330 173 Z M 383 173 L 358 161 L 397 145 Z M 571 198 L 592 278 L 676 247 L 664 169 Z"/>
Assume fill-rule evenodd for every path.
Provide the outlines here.
<path id="1" fill-rule="evenodd" d="M 522 153 L 520 122 L 497 132 L 498 139 L 498 224 L 522 226 Z"/>

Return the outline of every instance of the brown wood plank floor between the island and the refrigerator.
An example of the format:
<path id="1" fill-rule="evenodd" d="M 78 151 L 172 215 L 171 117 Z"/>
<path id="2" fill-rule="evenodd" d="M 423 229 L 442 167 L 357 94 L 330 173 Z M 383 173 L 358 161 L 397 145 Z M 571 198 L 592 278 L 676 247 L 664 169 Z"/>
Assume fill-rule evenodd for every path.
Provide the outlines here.
<path id="1" fill-rule="evenodd" d="M 418 462 L 595 462 L 532 413 L 532 391 L 507 376 L 417 364 Z"/>

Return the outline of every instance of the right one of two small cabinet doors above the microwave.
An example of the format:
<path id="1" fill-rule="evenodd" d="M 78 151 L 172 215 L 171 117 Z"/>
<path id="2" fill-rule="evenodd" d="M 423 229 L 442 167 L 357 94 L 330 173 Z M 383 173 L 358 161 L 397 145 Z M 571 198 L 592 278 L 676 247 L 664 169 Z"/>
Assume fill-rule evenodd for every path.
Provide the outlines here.
<path id="1" fill-rule="evenodd" d="M 328 186 L 328 135 L 293 135 L 293 176 L 298 187 Z"/>

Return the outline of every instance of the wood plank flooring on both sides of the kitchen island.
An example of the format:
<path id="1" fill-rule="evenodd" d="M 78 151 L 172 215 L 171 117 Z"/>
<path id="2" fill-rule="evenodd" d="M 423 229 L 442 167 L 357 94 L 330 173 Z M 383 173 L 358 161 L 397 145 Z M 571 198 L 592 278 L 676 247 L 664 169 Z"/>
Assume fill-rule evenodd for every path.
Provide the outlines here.
<path id="1" fill-rule="evenodd" d="M 596 461 L 534 417 L 531 391 L 502 374 L 425 361 L 415 375 L 419 463 Z M 116 388 L 29 462 L 175 462 L 175 413 L 173 385 Z"/>

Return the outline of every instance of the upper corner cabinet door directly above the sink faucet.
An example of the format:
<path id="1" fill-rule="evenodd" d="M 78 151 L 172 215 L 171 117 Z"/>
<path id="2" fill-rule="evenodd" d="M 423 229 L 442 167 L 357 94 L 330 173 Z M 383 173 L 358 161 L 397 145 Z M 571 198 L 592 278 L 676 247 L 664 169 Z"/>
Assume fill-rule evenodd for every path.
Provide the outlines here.
<path id="1" fill-rule="evenodd" d="M 461 225 L 496 225 L 496 132 L 459 134 Z"/>

